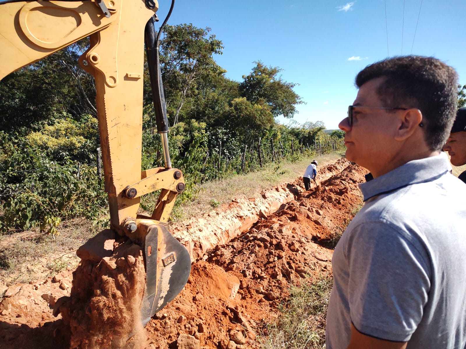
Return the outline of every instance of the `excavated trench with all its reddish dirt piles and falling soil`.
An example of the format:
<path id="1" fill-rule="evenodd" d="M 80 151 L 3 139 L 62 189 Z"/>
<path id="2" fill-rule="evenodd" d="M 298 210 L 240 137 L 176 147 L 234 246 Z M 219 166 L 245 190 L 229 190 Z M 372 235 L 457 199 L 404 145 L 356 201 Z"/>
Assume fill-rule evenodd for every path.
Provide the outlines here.
<path id="1" fill-rule="evenodd" d="M 320 168 L 319 185 L 307 192 L 297 179 L 172 227 L 190 252 L 191 276 L 144 329 L 134 302 L 142 292 L 142 256 L 135 245 L 108 239 L 110 253 L 82 256 L 74 280 L 66 270 L 7 290 L 2 348 L 257 348 L 261 323 L 276 318 L 290 283 L 331 275 L 333 250 L 325 242 L 361 203 L 364 174 L 341 159 Z"/>

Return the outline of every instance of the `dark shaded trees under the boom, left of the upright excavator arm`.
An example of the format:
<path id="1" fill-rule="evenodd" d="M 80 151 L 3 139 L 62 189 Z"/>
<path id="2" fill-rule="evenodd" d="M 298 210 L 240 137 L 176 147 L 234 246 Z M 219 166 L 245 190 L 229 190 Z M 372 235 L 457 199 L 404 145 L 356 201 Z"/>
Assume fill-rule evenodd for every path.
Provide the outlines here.
<path id="1" fill-rule="evenodd" d="M 0 129 L 40 129 L 69 116 L 96 116 L 94 79 L 78 64 L 88 43 L 81 40 L 2 79 Z"/>

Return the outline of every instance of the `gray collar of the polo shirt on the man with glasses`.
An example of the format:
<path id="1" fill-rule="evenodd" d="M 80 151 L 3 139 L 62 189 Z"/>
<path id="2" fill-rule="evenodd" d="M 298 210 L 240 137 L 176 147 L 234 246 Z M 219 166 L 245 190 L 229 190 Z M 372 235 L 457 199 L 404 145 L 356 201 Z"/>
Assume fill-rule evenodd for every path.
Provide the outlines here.
<path id="1" fill-rule="evenodd" d="M 424 159 L 406 162 L 390 172 L 359 184 L 364 201 L 373 196 L 384 194 L 403 188 L 411 184 L 433 181 L 444 175 L 451 168 L 450 161 L 445 153 Z"/>

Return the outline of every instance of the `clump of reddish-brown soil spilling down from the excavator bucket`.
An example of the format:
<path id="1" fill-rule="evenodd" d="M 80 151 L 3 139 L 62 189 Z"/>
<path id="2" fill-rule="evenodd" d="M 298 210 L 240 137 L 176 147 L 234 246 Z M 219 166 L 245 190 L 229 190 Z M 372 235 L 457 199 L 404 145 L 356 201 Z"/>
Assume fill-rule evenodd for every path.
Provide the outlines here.
<path id="1" fill-rule="evenodd" d="M 101 246 L 114 239 L 104 239 Z M 89 259 L 83 259 L 73 273 L 70 296 L 57 301 L 55 311 L 60 310 L 70 329 L 70 348 L 147 346 L 140 312 L 145 288 L 143 251 L 129 240 L 115 242 L 114 246 L 111 256 L 98 262 L 93 260 L 98 259 L 94 255 L 86 254 Z M 93 245 L 93 251 L 96 247 L 99 245 Z M 107 254 L 108 249 L 101 251 Z"/>

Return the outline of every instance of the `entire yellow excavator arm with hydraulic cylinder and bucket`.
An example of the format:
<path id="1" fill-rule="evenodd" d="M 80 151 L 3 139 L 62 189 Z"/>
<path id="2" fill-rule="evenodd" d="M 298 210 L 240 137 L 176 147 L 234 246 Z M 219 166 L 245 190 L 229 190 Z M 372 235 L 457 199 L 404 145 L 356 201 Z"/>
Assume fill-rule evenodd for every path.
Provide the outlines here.
<path id="1" fill-rule="evenodd" d="M 144 325 L 183 289 L 191 268 L 189 253 L 165 224 L 185 183 L 168 150 L 157 10 L 156 0 L 0 1 L 0 79 L 89 36 L 79 63 L 96 81 L 111 227 L 145 253 Z M 141 172 L 144 43 L 165 166 Z M 159 189 L 152 215 L 138 215 L 140 197 Z"/>

